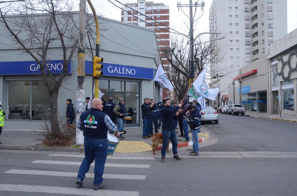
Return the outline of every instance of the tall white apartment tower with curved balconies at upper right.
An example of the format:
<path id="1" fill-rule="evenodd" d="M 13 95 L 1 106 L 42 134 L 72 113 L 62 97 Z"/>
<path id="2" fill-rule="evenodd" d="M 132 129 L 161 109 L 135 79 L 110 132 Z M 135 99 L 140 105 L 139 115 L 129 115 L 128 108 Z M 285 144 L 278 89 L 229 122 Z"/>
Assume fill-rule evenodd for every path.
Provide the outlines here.
<path id="1" fill-rule="evenodd" d="M 222 33 L 211 34 L 211 40 L 226 37 L 219 46 L 224 59 L 210 66 L 210 84 L 222 97 L 239 68 L 266 55 L 268 45 L 287 34 L 287 0 L 213 0 L 209 32 Z"/>

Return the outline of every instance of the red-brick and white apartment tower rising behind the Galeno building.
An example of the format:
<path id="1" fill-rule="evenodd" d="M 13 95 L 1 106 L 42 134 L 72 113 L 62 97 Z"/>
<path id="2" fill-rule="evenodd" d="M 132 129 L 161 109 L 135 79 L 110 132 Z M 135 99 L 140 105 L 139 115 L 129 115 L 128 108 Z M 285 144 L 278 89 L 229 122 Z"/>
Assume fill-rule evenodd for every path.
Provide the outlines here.
<path id="1" fill-rule="evenodd" d="M 163 3 L 154 3 L 153 1 L 145 1 L 138 0 L 137 3 L 127 3 L 125 4 L 132 9 L 137 10 L 138 12 L 162 23 L 159 24 L 154 20 L 145 17 L 138 12 L 133 11 L 132 9 L 124 6 L 123 9 L 127 10 L 127 12 L 122 11 L 121 13 L 121 21 L 124 23 L 130 23 L 132 25 L 138 25 L 141 27 L 153 29 L 155 31 L 155 35 L 157 38 L 157 44 L 159 46 L 159 50 L 169 46 L 169 6 L 164 5 Z M 136 17 L 138 18 L 136 18 Z M 140 20 L 141 19 L 141 20 Z M 143 22 L 145 20 L 147 23 Z M 148 24 L 149 23 L 149 24 Z M 154 26 L 156 27 L 154 27 Z M 164 26 L 166 25 L 166 26 Z M 143 35 L 145 39 L 146 35 Z M 169 69 L 169 62 L 165 58 L 164 54 L 160 54 L 162 64 L 164 66 L 164 70 Z"/>

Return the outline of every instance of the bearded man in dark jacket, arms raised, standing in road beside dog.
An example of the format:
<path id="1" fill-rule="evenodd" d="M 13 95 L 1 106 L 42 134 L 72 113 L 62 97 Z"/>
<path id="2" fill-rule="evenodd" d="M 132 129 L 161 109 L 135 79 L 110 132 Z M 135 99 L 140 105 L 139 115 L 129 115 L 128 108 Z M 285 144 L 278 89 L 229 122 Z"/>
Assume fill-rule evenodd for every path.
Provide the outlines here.
<path id="1" fill-rule="evenodd" d="M 175 133 L 175 124 L 174 120 L 178 119 L 178 109 L 181 108 L 181 104 L 174 107 L 173 109 L 170 108 L 170 99 L 163 99 L 162 101 L 162 135 L 163 135 L 163 145 L 161 150 L 161 162 L 165 163 L 165 154 L 166 148 L 169 142 L 169 139 L 172 143 L 172 152 L 173 152 L 173 159 L 174 160 L 183 160 L 177 155 L 177 137 Z"/>

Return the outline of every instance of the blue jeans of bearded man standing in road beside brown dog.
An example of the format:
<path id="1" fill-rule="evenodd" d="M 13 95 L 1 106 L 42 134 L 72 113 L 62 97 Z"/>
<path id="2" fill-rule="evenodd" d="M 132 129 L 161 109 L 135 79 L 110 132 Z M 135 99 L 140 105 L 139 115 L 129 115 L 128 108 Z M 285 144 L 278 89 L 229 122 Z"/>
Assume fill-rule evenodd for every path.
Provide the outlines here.
<path id="1" fill-rule="evenodd" d="M 162 150 L 161 150 L 161 155 L 165 156 L 166 154 L 166 148 L 169 145 L 169 139 L 172 143 L 172 152 L 173 155 L 177 155 L 177 136 L 175 133 L 175 130 L 169 131 L 169 130 L 162 130 L 162 135 L 163 135 L 163 145 L 162 145 Z"/>

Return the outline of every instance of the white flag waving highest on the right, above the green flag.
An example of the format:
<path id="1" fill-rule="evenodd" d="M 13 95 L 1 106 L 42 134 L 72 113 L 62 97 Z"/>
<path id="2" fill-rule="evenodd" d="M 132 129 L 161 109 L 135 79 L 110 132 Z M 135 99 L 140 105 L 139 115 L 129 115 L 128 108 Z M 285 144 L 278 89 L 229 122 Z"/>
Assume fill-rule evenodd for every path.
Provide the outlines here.
<path id="1" fill-rule="evenodd" d="M 210 100 L 216 100 L 216 97 L 219 93 L 219 89 L 210 89 L 208 87 L 207 81 L 206 81 L 206 68 L 202 70 L 198 78 L 193 82 L 193 86 L 198 91 L 198 93 L 202 96 L 204 96 L 207 99 Z"/>

